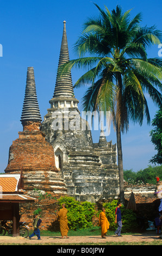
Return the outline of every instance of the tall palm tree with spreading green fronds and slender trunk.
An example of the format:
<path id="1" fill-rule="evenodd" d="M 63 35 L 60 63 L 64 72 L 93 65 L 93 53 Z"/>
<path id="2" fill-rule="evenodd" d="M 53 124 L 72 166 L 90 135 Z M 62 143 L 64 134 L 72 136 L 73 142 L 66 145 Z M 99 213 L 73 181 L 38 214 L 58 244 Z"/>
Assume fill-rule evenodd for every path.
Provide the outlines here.
<path id="1" fill-rule="evenodd" d="M 89 84 L 83 97 L 84 111 L 111 111 L 116 129 L 120 179 L 120 199 L 124 202 L 121 133 L 128 131 L 129 120 L 150 123 L 146 93 L 161 105 L 161 64 L 159 58 L 147 58 L 147 48 L 160 44 L 161 32 L 155 26 L 140 27 L 141 13 L 130 20 L 130 10 L 117 6 L 111 13 L 99 8 L 99 17 L 84 23 L 83 34 L 74 49 L 79 58 L 60 68 L 85 68 L 74 87 Z M 88 57 L 86 57 L 88 53 Z M 85 57 L 84 57 L 85 56 Z M 90 57 L 89 57 L 90 56 Z"/>

